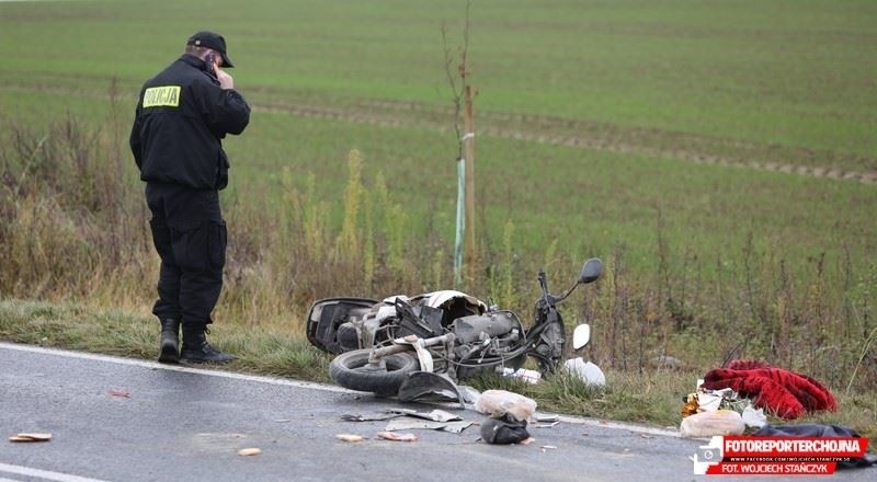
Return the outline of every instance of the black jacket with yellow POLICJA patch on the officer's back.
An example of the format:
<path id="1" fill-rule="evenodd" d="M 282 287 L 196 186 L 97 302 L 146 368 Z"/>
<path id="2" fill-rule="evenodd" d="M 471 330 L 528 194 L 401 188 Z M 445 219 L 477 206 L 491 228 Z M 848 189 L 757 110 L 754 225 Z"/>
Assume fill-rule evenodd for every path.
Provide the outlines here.
<path id="1" fill-rule="evenodd" d="M 228 158 L 221 139 L 240 134 L 250 106 L 235 90 L 223 90 L 204 60 L 183 55 L 140 91 L 130 150 L 147 182 L 221 190 Z"/>

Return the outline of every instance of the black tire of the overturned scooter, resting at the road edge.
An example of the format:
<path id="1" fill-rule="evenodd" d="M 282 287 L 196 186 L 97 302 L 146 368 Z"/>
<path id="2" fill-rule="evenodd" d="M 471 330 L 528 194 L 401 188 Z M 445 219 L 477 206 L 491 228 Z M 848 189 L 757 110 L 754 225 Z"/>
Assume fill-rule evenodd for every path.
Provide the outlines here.
<path id="1" fill-rule="evenodd" d="M 338 355 L 329 364 L 329 376 L 335 383 L 351 390 L 395 395 L 408 374 L 420 369 L 420 362 L 413 353 L 385 356 L 380 366 L 368 365 L 371 353 L 371 349 L 354 349 Z"/>

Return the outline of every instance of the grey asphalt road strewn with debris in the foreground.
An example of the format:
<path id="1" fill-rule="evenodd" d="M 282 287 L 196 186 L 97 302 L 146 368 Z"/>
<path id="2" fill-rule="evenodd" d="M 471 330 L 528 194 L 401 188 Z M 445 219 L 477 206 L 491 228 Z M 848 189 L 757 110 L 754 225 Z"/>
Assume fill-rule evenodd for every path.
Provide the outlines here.
<path id="1" fill-rule="evenodd" d="M 705 443 L 670 431 L 563 417 L 553 427 L 531 426 L 529 445 L 481 443 L 477 425 L 460 434 L 407 431 L 418 440 L 402 443 L 376 437 L 387 421 L 341 418 L 399 408 L 435 409 L 289 379 L 0 343 L 0 436 L 53 436 L 0 440 L 0 482 L 704 479 L 688 457 Z M 366 438 L 345 443 L 338 434 Z M 261 455 L 238 455 L 253 447 Z M 875 474 L 863 469 L 831 479 Z"/>

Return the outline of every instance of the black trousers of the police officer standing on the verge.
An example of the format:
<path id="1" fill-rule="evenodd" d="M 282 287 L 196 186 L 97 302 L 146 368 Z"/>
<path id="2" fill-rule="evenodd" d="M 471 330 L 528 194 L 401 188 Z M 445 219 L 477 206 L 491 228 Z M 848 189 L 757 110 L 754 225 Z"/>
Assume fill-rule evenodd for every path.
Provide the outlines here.
<path id="1" fill-rule="evenodd" d="M 183 331 L 204 329 L 223 289 L 228 232 L 219 193 L 173 184 L 147 183 L 149 226 L 161 257 L 159 320 L 174 319 Z"/>

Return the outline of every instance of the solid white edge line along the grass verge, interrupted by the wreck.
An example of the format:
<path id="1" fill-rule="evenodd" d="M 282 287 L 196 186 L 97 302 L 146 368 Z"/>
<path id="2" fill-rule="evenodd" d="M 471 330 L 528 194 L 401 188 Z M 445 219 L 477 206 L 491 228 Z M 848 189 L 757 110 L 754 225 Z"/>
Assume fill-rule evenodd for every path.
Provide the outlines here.
<path id="1" fill-rule="evenodd" d="M 169 371 L 187 371 L 191 374 L 200 374 L 200 375 L 207 375 L 212 377 L 223 377 L 223 378 L 231 378 L 236 380 L 246 380 L 246 381 L 254 381 L 259 383 L 271 383 L 271 385 L 280 385 L 285 387 L 298 387 L 298 388 L 307 388 L 311 390 L 323 390 L 323 391 L 331 391 L 335 393 L 362 393 L 353 390 L 348 390 L 341 387 L 334 387 L 331 385 L 323 385 L 323 383 L 315 383 L 312 381 L 299 381 L 299 380 L 287 380 L 282 378 L 270 378 L 270 377 L 262 377 L 258 375 L 243 375 L 243 374 L 235 374 L 231 371 L 219 371 L 219 370 L 208 370 L 204 368 L 190 368 L 180 365 L 166 365 L 160 364 L 158 362 L 147 362 L 140 359 L 133 359 L 133 358 L 122 358 L 116 356 L 109 356 L 109 355 L 98 355 L 93 353 L 80 353 L 80 352 L 68 352 L 64 349 L 57 348 L 45 348 L 42 346 L 31 346 L 31 345 L 19 345 L 14 343 L 4 343 L 0 342 L 0 349 L 12 349 L 19 352 L 30 352 L 30 353 L 42 353 L 45 355 L 53 355 L 53 356 L 64 356 L 68 358 L 80 358 L 80 359 L 91 359 L 95 362 L 106 362 L 113 363 L 118 365 L 133 365 L 144 368 L 151 368 L 151 369 L 161 369 L 161 370 L 169 370 Z M 635 432 L 638 434 L 649 434 L 649 435 L 660 435 L 664 437 L 675 437 L 679 438 L 680 434 L 676 431 L 672 429 L 664 429 L 664 428 L 657 428 L 657 427 L 648 427 L 642 425 L 633 425 L 626 424 L 623 422 L 611 422 L 604 420 L 595 420 L 595 418 L 584 418 L 578 416 L 568 416 L 562 415 L 560 416 L 560 421 L 563 423 L 571 423 L 571 424 L 582 424 L 582 425 L 593 425 L 599 427 L 606 427 L 606 428 L 619 428 L 625 431 Z"/>

